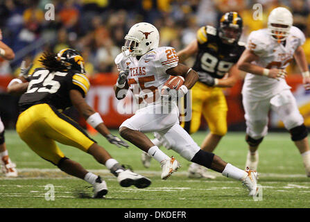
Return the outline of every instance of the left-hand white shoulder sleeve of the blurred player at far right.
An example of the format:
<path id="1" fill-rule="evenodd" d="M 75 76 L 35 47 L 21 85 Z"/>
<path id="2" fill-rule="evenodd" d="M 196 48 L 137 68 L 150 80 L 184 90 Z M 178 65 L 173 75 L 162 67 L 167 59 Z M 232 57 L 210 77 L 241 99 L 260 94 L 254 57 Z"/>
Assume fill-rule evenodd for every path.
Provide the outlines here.
<path id="1" fill-rule="evenodd" d="M 268 39 L 265 32 L 259 30 L 259 31 L 252 31 L 248 37 L 248 42 L 246 45 L 247 49 L 250 49 L 255 53 L 255 55 L 259 57 L 264 57 L 266 54 L 268 54 Z"/>

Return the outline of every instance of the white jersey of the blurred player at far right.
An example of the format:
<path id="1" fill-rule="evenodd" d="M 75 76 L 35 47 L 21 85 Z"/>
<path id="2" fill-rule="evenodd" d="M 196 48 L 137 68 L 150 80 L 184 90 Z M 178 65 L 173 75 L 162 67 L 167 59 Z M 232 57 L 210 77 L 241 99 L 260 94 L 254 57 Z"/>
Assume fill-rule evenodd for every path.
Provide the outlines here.
<path id="1" fill-rule="evenodd" d="M 299 28 L 292 26 L 289 36 L 286 38 L 285 44 L 278 43 L 268 33 L 268 29 L 260 29 L 252 31 L 248 37 L 247 49 L 252 50 L 259 60 L 253 61 L 252 64 L 267 69 L 285 69 L 291 60 L 298 46 L 304 44 L 304 33 Z M 283 89 L 290 89 L 286 80 L 276 80 L 266 76 L 247 74 L 242 94 L 249 95 L 252 98 L 268 98 L 281 92 Z"/>

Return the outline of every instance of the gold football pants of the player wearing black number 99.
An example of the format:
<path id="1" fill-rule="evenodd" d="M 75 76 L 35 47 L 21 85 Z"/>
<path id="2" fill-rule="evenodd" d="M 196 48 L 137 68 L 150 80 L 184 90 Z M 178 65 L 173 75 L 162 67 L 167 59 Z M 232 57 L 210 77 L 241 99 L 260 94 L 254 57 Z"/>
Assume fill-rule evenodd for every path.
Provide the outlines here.
<path id="1" fill-rule="evenodd" d="M 207 121 L 209 130 L 214 135 L 227 133 L 227 103 L 219 87 L 208 87 L 197 82 L 191 89 L 191 121 L 182 122 L 181 126 L 189 134 L 196 133 L 200 127 L 201 114 Z"/>

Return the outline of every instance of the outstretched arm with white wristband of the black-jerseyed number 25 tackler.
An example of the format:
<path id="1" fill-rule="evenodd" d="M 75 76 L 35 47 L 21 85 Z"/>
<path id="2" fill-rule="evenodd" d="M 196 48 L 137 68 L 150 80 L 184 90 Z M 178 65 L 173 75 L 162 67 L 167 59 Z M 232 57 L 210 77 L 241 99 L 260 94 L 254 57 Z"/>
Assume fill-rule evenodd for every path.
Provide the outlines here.
<path id="1" fill-rule="evenodd" d="M 119 147 L 129 146 L 126 142 L 119 139 L 118 137 L 115 137 L 114 135 L 110 133 L 110 130 L 108 130 L 105 124 L 103 123 L 103 120 L 101 119 L 100 114 L 98 114 L 98 112 L 95 112 L 94 109 L 86 103 L 82 94 L 78 92 L 78 90 L 71 89 L 69 92 L 69 95 L 70 95 L 72 105 L 74 105 L 74 107 L 78 110 L 78 112 L 80 112 L 80 114 L 83 115 L 87 123 L 89 123 L 89 125 L 94 127 L 111 144 L 117 145 Z"/>

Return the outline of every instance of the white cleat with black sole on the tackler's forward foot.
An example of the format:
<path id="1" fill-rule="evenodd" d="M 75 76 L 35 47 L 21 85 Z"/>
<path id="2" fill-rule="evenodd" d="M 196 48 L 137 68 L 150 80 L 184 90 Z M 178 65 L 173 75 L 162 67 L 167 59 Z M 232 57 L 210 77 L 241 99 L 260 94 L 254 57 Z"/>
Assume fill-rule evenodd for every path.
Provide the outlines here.
<path id="1" fill-rule="evenodd" d="M 135 185 L 137 188 L 146 188 L 150 185 L 150 179 L 126 169 L 117 176 L 117 181 L 121 187 L 130 187 Z"/>

